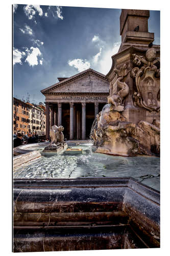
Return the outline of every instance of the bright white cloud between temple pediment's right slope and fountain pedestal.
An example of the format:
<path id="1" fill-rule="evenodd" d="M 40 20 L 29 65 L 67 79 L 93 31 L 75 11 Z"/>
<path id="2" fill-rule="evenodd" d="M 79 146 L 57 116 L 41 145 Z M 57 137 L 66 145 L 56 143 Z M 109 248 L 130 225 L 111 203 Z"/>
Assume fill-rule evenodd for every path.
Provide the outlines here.
<path id="1" fill-rule="evenodd" d="M 112 48 L 107 48 L 103 54 L 102 54 L 102 58 L 99 61 L 99 70 L 101 73 L 103 74 L 107 74 L 112 66 L 112 59 L 111 56 L 116 54 L 118 52 L 118 49 L 120 47 L 121 42 L 116 42 Z"/>

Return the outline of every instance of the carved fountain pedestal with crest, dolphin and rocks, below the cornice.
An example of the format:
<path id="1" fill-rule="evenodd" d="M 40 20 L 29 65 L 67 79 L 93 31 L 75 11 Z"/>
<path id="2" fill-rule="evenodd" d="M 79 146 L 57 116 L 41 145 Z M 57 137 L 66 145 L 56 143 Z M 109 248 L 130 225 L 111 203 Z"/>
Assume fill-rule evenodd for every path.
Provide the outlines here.
<path id="1" fill-rule="evenodd" d="M 122 52 L 112 58 L 118 55 Z M 160 61 L 151 48 L 145 57 L 131 54 L 129 62 L 138 67 L 113 65 L 108 73 L 108 104 L 97 115 L 90 137 L 99 153 L 159 156 Z"/>

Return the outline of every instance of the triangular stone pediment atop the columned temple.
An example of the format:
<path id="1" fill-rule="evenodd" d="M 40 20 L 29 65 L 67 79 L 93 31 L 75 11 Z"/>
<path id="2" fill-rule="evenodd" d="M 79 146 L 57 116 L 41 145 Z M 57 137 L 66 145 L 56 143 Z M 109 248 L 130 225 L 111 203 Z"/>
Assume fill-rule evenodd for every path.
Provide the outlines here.
<path id="1" fill-rule="evenodd" d="M 66 78 L 41 92 L 48 93 L 106 93 L 109 91 L 109 82 L 105 75 L 87 69 L 74 76 Z"/>

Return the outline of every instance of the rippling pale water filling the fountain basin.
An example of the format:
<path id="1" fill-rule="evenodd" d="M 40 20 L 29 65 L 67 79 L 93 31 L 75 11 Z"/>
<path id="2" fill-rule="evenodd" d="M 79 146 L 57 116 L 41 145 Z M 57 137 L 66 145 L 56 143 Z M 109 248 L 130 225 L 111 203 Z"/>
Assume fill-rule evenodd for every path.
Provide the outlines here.
<path id="1" fill-rule="evenodd" d="M 149 156 L 121 157 L 94 153 L 91 144 L 69 144 L 82 148 L 82 154 L 61 153 L 21 165 L 13 178 L 81 178 L 133 177 L 145 185 L 160 190 L 160 158 Z M 42 147 L 36 148 L 42 151 Z"/>

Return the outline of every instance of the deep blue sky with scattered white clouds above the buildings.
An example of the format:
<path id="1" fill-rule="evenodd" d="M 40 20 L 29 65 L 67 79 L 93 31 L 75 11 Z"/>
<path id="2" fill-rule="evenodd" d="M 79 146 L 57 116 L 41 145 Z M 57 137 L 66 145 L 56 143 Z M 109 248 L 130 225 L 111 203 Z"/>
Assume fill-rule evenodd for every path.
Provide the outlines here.
<path id="1" fill-rule="evenodd" d="M 121 9 L 13 6 L 13 95 L 44 102 L 40 90 L 88 68 L 106 75 L 117 53 Z M 160 44 L 160 11 L 150 11 L 149 32 Z"/>

